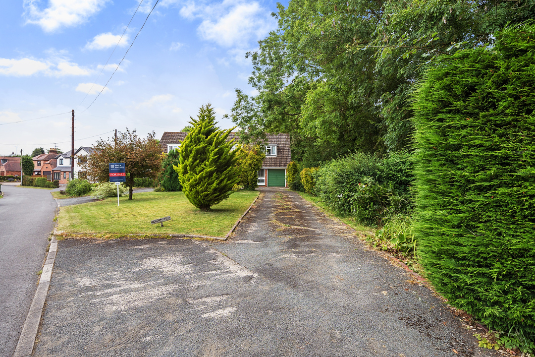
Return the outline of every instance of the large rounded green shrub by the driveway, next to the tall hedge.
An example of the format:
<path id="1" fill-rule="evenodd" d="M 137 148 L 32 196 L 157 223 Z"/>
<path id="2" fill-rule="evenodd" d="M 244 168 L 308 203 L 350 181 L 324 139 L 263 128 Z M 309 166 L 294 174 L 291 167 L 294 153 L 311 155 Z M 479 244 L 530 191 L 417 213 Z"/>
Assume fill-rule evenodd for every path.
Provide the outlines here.
<path id="1" fill-rule="evenodd" d="M 357 153 L 322 166 L 315 174 L 316 194 L 339 215 L 380 226 L 383 219 L 410 212 L 414 165 L 408 153 L 386 158 Z"/>

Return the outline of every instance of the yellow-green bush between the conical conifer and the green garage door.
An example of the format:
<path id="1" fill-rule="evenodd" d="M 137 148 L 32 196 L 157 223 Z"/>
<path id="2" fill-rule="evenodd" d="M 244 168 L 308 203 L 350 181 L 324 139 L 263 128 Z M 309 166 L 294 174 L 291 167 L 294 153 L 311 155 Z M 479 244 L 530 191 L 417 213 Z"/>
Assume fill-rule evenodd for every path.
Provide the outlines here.
<path id="1" fill-rule="evenodd" d="M 262 168 L 266 154 L 264 147 L 259 145 L 241 145 L 236 154 L 238 168 L 240 170 L 239 185 L 244 189 L 253 191 L 258 187 L 258 170 Z"/>

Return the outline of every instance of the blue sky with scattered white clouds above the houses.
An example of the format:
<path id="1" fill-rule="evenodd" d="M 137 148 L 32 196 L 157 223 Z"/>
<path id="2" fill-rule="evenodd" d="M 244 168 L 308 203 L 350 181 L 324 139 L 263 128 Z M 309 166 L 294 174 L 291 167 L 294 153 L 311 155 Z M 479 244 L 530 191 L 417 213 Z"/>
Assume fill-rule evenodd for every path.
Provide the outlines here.
<path id="1" fill-rule="evenodd" d="M 206 103 L 216 109 L 221 128 L 232 127 L 222 116 L 232 108 L 235 88 L 254 94 L 245 54 L 277 27 L 271 17 L 276 1 L 160 0 L 90 105 L 155 2 L 142 1 L 120 42 L 140 0 L 4 2 L 0 155 L 69 150 L 72 109 L 75 147 L 125 127 L 141 136 L 154 130 L 159 139 L 164 131 L 181 130 Z M 45 116 L 51 117 L 35 119 Z"/>

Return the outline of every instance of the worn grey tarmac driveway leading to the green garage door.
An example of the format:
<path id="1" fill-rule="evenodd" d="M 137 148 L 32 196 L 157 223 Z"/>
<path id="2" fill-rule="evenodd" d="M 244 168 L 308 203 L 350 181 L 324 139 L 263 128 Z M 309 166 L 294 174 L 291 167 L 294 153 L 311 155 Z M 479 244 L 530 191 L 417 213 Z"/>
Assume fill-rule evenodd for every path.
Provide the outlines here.
<path id="1" fill-rule="evenodd" d="M 494 356 L 345 226 L 265 190 L 226 242 L 59 242 L 34 356 Z"/>

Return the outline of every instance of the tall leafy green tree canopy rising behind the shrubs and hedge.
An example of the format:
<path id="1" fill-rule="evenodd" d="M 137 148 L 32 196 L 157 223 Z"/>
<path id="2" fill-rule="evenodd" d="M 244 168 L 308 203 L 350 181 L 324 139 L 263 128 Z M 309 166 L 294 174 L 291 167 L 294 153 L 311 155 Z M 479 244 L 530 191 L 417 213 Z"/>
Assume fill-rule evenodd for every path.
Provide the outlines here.
<path id="1" fill-rule="evenodd" d="M 494 41 L 535 17 L 533 0 L 291 0 L 249 52 L 249 83 L 231 117 L 250 136 L 290 133 L 307 165 L 410 144 L 408 98 L 440 54 Z"/>

